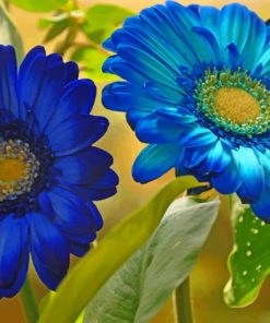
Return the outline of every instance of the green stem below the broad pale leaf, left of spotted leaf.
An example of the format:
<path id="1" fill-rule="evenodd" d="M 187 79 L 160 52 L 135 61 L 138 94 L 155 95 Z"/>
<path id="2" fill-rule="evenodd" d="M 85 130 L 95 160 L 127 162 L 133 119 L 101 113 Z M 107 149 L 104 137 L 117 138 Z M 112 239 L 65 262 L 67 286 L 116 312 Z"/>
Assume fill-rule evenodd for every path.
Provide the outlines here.
<path id="1" fill-rule="evenodd" d="M 177 323 L 193 323 L 189 277 L 175 290 L 175 312 Z"/>

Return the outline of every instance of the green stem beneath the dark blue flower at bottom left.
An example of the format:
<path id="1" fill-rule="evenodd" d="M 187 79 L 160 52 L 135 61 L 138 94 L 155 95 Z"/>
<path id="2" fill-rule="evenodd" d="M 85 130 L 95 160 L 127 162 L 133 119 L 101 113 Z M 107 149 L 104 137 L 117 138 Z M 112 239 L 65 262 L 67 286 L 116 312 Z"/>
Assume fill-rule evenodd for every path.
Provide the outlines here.
<path id="1" fill-rule="evenodd" d="M 28 323 L 36 323 L 38 319 L 38 311 L 37 311 L 37 304 L 36 299 L 31 286 L 30 278 L 26 277 L 25 283 L 23 285 L 23 288 L 20 292 L 24 314 L 27 319 Z"/>

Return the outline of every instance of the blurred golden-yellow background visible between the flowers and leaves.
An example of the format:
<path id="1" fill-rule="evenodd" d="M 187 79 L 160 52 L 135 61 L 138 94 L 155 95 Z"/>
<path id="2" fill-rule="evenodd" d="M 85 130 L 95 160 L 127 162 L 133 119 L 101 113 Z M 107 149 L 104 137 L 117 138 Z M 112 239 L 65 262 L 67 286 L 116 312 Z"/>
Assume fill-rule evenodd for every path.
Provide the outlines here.
<path id="1" fill-rule="evenodd" d="M 46 0 L 36 0 L 46 1 Z M 82 0 L 80 3 L 83 7 L 90 7 L 94 3 L 116 3 L 129 8 L 137 12 L 142 8 L 154 3 L 163 3 L 159 0 Z M 200 4 L 212 4 L 222 7 L 231 1 L 201 1 Z M 262 19 L 270 17 L 270 1 L 269 0 L 245 0 L 239 1 L 255 10 Z M 183 0 L 181 3 L 190 4 L 191 1 Z M 42 44 L 44 33 L 37 27 L 38 19 L 49 14 L 28 13 L 11 5 L 11 15 L 22 35 L 25 50 L 31 47 Z M 102 23 L 102 22 L 101 22 Z M 245 26 L 243 26 L 245 28 Z M 48 51 L 52 50 L 52 45 L 46 46 Z M 104 84 L 97 84 L 98 88 Z M 105 218 L 105 227 L 101 235 L 104 235 L 117 220 L 124 217 L 128 212 L 142 205 L 165 182 L 174 177 L 173 172 L 164 176 L 149 184 L 134 183 L 131 178 L 132 163 L 142 148 L 134 137 L 132 131 L 125 121 L 125 116 L 111 111 L 107 111 L 102 107 L 101 97 L 98 96 L 94 113 L 105 115 L 110 120 L 110 128 L 99 144 L 109 151 L 115 157 L 114 168 L 120 176 L 120 184 L 118 194 L 107 201 L 98 203 Z M 191 275 L 193 306 L 197 323 L 269 323 L 270 322 L 270 282 L 267 282 L 262 287 L 262 292 L 255 304 L 246 308 L 232 310 L 228 309 L 222 299 L 222 290 L 228 278 L 226 268 L 227 254 L 232 248 L 232 232 L 230 219 L 224 208 L 218 222 L 215 223 L 212 232 L 208 239 L 203 251 L 200 254 L 199 262 Z M 109 261 L 109 260 L 108 260 Z M 37 297 L 40 298 L 46 289 L 38 282 L 33 273 L 33 279 L 36 283 Z M 72 290 L 70 291 L 72 292 Z M 25 322 L 23 312 L 20 306 L 19 297 L 0 301 L 0 322 L 1 323 L 23 323 Z M 161 313 L 153 320 L 154 323 L 171 323 L 173 322 L 173 309 L 171 300 Z M 103 322 L 101 322 L 103 323 Z"/>

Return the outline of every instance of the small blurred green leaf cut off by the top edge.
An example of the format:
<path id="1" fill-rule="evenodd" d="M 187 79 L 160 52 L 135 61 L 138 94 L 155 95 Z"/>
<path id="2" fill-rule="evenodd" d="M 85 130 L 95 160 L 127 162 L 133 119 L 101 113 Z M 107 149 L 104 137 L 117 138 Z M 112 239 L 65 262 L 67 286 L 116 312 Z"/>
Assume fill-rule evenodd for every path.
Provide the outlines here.
<path id="1" fill-rule="evenodd" d="M 34 12 L 48 12 L 61 9 L 69 0 L 9 0 L 11 3 Z"/>

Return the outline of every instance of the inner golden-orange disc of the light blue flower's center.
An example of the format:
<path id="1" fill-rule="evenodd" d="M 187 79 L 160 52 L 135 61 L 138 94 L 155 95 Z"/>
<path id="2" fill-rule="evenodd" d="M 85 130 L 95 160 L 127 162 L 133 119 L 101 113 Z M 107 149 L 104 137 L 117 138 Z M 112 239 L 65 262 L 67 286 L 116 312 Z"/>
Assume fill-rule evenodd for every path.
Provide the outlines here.
<path id="1" fill-rule="evenodd" d="M 243 124 L 255 121 L 261 113 L 257 99 L 247 91 L 239 87 L 221 87 L 214 96 L 219 115 L 234 123 Z"/>

